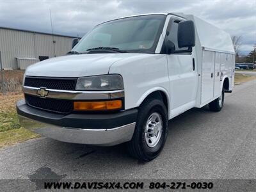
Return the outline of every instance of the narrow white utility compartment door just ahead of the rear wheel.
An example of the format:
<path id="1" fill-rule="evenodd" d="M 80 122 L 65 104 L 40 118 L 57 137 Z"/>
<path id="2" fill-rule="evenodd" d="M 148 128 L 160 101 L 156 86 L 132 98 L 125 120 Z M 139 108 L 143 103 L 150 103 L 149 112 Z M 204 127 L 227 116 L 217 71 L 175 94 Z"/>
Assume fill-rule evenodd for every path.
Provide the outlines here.
<path id="1" fill-rule="evenodd" d="M 214 65 L 214 97 L 221 95 L 221 81 L 220 81 L 220 52 L 215 52 Z"/>

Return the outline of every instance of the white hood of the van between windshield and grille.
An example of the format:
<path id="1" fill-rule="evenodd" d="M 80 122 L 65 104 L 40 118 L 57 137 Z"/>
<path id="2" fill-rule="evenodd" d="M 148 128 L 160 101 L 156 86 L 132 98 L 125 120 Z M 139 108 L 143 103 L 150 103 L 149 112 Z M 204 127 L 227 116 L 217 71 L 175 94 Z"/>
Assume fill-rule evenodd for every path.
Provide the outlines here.
<path id="1" fill-rule="evenodd" d="M 44 60 L 26 69 L 26 76 L 83 77 L 108 74 L 116 61 L 135 53 L 75 54 Z"/>

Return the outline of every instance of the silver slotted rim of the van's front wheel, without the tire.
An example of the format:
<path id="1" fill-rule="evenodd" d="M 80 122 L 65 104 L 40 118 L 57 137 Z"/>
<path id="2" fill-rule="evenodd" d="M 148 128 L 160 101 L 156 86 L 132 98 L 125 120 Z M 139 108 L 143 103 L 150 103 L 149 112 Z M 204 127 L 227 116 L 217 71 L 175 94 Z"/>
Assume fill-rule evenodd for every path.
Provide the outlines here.
<path id="1" fill-rule="evenodd" d="M 163 132 L 163 120 L 159 113 L 152 113 L 147 120 L 145 139 L 148 147 L 155 147 Z"/>

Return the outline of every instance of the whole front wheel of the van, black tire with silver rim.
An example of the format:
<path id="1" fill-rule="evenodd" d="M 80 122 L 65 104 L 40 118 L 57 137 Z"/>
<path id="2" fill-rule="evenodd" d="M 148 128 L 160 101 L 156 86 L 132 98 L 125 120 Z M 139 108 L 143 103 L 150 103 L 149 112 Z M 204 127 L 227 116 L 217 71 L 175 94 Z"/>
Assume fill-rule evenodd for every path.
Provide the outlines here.
<path id="1" fill-rule="evenodd" d="M 156 131 L 159 130 L 158 127 L 162 127 L 162 131 Z M 163 149 L 167 133 L 168 113 L 163 100 L 147 99 L 139 108 L 138 120 L 132 140 L 127 143 L 127 150 L 131 156 L 141 161 L 151 161 Z"/>

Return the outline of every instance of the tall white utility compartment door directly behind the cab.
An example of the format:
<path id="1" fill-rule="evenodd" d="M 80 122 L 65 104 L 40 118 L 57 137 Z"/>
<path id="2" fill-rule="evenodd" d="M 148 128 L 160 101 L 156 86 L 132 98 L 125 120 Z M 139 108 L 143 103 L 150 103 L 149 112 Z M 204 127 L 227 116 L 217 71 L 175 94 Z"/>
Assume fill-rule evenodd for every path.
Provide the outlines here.
<path id="1" fill-rule="evenodd" d="M 214 96 L 214 57 L 213 51 L 203 51 L 201 104 L 207 104 Z"/>

